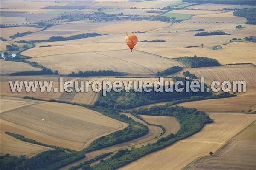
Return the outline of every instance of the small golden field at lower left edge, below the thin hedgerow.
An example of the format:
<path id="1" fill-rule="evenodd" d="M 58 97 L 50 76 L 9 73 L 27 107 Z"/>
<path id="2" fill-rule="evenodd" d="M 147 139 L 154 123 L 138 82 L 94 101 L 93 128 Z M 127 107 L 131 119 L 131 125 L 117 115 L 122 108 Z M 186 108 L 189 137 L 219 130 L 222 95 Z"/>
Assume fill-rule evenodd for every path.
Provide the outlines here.
<path id="1" fill-rule="evenodd" d="M 26 157 L 35 156 L 38 153 L 53 150 L 50 147 L 44 147 L 28 142 L 20 141 L 12 136 L 0 132 L 0 155 L 10 154 L 12 156 L 25 155 Z"/>

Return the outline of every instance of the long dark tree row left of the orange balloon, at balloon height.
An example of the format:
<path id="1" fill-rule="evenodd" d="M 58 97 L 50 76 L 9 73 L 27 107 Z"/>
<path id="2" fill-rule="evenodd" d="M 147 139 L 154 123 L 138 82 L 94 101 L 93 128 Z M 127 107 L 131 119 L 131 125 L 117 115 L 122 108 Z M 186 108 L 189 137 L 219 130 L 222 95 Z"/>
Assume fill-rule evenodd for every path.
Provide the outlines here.
<path id="1" fill-rule="evenodd" d="M 81 38 L 95 37 L 95 36 L 99 36 L 99 35 L 101 35 L 101 34 L 93 32 L 93 33 L 72 35 L 72 36 L 69 36 L 69 37 L 52 36 L 52 37 L 49 37 L 48 40 L 30 40 L 30 41 L 20 40 L 20 41 L 17 41 L 17 42 L 20 42 L 20 43 L 35 43 L 35 42 L 68 41 L 68 40 L 76 40 L 76 39 L 81 39 Z"/>

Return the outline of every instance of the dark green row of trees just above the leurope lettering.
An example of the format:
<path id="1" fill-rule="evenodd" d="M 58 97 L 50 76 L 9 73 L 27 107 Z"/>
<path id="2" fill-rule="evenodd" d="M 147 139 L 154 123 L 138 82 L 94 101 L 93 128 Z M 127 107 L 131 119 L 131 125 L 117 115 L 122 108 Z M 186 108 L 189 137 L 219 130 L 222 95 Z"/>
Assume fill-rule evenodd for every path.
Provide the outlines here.
<path id="1" fill-rule="evenodd" d="M 99 70 L 99 71 L 79 71 L 78 73 L 72 72 L 68 76 L 73 77 L 91 77 L 91 76 L 124 76 L 125 73 L 113 71 L 113 70 Z"/>

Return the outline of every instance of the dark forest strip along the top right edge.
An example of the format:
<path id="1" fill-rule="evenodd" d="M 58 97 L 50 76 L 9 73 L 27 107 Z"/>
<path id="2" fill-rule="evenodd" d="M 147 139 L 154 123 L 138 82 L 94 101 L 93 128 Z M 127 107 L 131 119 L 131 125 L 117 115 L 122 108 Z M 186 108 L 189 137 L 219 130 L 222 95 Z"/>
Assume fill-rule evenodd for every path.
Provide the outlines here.
<path id="1" fill-rule="evenodd" d="M 183 2 L 252 5 L 252 6 L 256 5 L 255 0 L 183 0 Z"/>

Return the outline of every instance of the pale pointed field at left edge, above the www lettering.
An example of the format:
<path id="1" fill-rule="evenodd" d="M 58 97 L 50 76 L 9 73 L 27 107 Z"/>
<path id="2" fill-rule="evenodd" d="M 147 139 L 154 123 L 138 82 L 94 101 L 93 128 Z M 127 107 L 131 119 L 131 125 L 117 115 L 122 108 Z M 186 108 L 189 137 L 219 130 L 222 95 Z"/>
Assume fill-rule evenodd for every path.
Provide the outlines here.
<path id="1" fill-rule="evenodd" d="M 0 74 L 15 73 L 20 71 L 41 71 L 41 68 L 32 67 L 28 63 L 4 61 L 0 62 Z"/>

